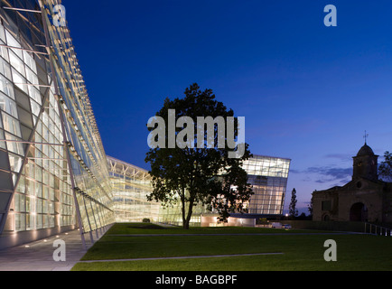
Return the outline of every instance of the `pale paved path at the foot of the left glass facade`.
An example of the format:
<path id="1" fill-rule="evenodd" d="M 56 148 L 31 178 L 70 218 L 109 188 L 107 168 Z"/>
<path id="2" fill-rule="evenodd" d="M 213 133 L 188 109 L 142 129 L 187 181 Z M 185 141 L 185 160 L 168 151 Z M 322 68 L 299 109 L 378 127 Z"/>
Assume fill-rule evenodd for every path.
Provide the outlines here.
<path id="1" fill-rule="evenodd" d="M 89 234 L 85 234 L 85 238 L 86 246 L 89 249 L 92 246 Z M 93 238 L 97 239 L 95 232 Z M 53 247 L 53 242 L 56 239 L 65 242 L 65 261 L 56 262 L 53 260 L 53 252 L 57 248 Z M 70 271 L 85 253 L 79 230 L 75 229 L 23 246 L 0 250 L 0 271 Z"/>

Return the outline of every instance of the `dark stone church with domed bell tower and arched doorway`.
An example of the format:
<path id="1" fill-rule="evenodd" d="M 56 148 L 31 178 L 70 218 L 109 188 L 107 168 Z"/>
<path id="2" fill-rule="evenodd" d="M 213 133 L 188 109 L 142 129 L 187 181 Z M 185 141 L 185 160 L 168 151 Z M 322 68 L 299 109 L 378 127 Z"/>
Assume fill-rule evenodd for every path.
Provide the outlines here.
<path id="1" fill-rule="evenodd" d="M 392 182 L 378 179 L 378 155 L 365 142 L 352 158 L 350 182 L 313 191 L 313 220 L 392 222 Z"/>

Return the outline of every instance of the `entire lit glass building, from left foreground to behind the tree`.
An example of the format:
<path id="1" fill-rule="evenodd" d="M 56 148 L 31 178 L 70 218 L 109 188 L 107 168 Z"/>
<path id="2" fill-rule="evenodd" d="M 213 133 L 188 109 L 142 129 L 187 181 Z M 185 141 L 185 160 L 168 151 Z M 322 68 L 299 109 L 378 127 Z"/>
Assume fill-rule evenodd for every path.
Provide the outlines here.
<path id="1" fill-rule="evenodd" d="M 0 237 L 79 228 L 84 240 L 116 221 L 181 225 L 180 206 L 146 199 L 147 171 L 105 154 L 70 31 L 51 24 L 61 1 L 15 3 L 0 9 Z M 249 213 L 282 213 L 289 165 L 259 155 L 244 163 Z M 191 226 L 205 212 L 196 206 Z"/>

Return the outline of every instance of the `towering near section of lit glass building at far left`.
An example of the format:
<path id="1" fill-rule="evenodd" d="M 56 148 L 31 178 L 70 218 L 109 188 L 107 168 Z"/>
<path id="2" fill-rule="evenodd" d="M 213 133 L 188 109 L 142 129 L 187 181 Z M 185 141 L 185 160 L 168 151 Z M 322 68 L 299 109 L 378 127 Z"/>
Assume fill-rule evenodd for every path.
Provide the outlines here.
<path id="1" fill-rule="evenodd" d="M 1 1 L 0 247 L 115 221 L 107 160 L 60 1 Z M 56 8 L 56 9 L 57 9 Z"/>

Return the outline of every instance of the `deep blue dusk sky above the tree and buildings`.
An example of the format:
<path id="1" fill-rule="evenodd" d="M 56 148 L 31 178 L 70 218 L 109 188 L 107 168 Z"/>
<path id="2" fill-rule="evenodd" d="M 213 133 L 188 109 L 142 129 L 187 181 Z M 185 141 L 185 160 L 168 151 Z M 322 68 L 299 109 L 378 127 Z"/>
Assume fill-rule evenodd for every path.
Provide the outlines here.
<path id="1" fill-rule="evenodd" d="M 253 154 L 292 159 L 285 210 L 293 188 L 307 213 L 349 182 L 365 130 L 379 162 L 392 151 L 390 0 L 62 5 L 107 155 L 148 170 L 148 118 L 195 82 L 245 117 Z"/>

